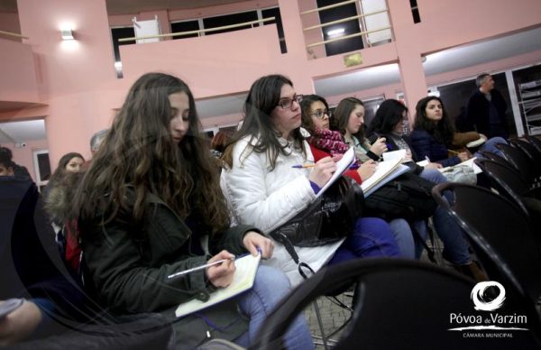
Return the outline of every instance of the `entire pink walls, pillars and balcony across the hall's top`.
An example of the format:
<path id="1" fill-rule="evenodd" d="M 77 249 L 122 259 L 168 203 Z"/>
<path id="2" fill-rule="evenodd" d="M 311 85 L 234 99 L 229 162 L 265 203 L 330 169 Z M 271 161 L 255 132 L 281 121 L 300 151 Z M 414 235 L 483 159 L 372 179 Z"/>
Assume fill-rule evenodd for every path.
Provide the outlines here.
<path id="1" fill-rule="evenodd" d="M 7 93 L 0 92 L 0 100 L 7 98 L 2 94 L 11 94 L 21 96 L 17 98 L 23 101 L 40 101 L 48 106 L 4 111 L 0 118 L 45 116 L 50 158 L 55 163 L 69 151 L 82 152 L 87 156 L 90 136 L 110 123 L 114 109 L 122 104 L 126 89 L 135 78 L 149 70 L 169 71 L 185 78 L 195 96 L 202 98 L 246 91 L 255 78 L 275 72 L 288 75 L 298 91 L 307 93 L 314 91 L 314 78 L 398 62 L 402 84 L 373 88 L 358 95 L 373 96 L 382 91 L 386 96 L 394 97 L 396 90 L 402 89 L 408 104 L 412 105 L 426 94 L 427 82 L 432 85 L 439 78 L 448 80 L 453 79 L 454 74 L 462 76 L 467 73 L 460 71 L 445 74 L 445 77 L 426 78 L 420 65 L 421 54 L 541 24 L 539 1 L 417 0 L 422 22 L 414 24 L 407 1 L 389 0 L 396 41 L 362 50 L 362 65 L 348 69 L 344 68 L 343 55 L 308 60 L 302 32 L 303 21 L 306 20 L 299 16 L 308 3 L 315 2 L 261 0 L 193 11 L 140 14 L 142 17 L 158 14 L 163 31 L 168 18 L 179 20 L 229 14 L 279 4 L 288 53 L 280 53 L 273 25 L 199 39 L 129 45 L 121 49 L 125 78 L 116 79 L 109 25 L 126 20 L 131 23 L 133 16 L 108 16 L 105 0 L 49 0 L 47 6 L 43 6 L 41 0 L 18 0 L 21 30 L 30 37 L 24 43 L 32 48 L 35 83 L 28 82 L 18 87 L 20 77 L 12 75 L 4 80 L 5 83 L 0 83 L 0 88 L 17 88 Z M 60 40 L 60 24 L 65 21 L 73 23 L 76 41 Z M 0 51 L 5 54 L 3 49 L 7 46 L 2 45 L 4 43 L 0 44 Z M 29 60 L 28 50 L 24 52 L 23 60 Z M 17 67 L 16 61 L 21 58 L 18 55 L 6 56 L 6 60 L 9 63 L 3 62 L 5 67 Z M 528 60 L 535 60 L 535 57 Z M 512 61 L 506 64 L 512 64 Z M 475 70 L 490 70 L 491 67 L 487 64 Z M 32 75 L 32 72 L 26 74 Z M 30 76 L 25 79 L 32 80 Z M 28 92 L 21 93 L 24 89 Z M 220 124 L 221 120 L 230 123 L 234 118 L 215 117 L 204 123 Z"/>

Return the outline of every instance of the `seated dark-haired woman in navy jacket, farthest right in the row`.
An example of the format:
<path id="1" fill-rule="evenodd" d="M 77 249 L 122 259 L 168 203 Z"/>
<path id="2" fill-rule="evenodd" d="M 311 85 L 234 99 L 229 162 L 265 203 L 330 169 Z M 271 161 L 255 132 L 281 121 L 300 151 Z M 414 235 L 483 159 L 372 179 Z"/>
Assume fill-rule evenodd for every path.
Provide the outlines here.
<path id="1" fill-rule="evenodd" d="M 497 143 L 507 143 L 501 137 L 487 139 L 476 132 L 457 133 L 453 121 L 447 115 L 445 106 L 439 97 L 424 97 L 417 102 L 416 117 L 411 133 L 411 145 L 421 160 L 427 158 L 444 167 L 456 165 L 472 158 L 472 153 L 464 150 L 466 143 L 484 139 L 479 151 L 495 152 L 501 155 Z M 481 157 L 476 152 L 473 154 Z"/>

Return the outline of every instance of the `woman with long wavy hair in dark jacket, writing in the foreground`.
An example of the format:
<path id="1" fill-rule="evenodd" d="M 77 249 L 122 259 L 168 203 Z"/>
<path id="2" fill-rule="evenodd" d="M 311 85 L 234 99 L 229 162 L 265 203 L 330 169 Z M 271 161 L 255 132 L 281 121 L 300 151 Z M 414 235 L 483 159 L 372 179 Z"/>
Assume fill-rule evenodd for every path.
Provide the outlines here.
<path id="1" fill-rule="evenodd" d="M 200 135 L 194 97 L 179 78 L 143 75 L 96 153 L 78 189 L 78 215 L 86 282 L 96 299 L 117 314 L 160 312 L 190 299 L 206 300 L 234 276 L 232 254 L 261 251 L 273 243 L 252 226 L 229 228 L 215 162 Z M 206 263 L 206 269 L 168 276 Z M 178 347 L 207 336 L 248 346 L 289 281 L 260 266 L 254 286 L 236 299 L 175 321 Z M 246 332 L 244 317 L 250 318 Z M 299 318 L 286 347 L 310 348 Z"/>

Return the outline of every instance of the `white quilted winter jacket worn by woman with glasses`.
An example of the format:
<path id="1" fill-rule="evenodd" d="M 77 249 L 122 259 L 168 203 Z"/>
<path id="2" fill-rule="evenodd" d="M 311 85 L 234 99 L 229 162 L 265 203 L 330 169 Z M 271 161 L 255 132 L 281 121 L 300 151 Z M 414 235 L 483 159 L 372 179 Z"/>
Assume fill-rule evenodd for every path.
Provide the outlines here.
<path id="1" fill-rule="evenodd" d="M 263 232 L 286 223 L 316 198 L 310 186 L 308 174 L 311 169 L 295 169 L 292 165 L 313 162 L 308 143 L 303 142 L 307 157 L 300 149 L 289 147 L 288 156 L 280 153 L 274 170 L 267 153 L 252 152 L 245 137 L 234 145 L 233 168 L 222 171 L 220 186 L 232 212 L 234 224 L 259 227 Z M 256 141 L 252 141 L 254 144 Z M 281 138 L 282 144 L 288 143 Z M 315 271 L 325 265 L 343 241 L 313 248 L 296 247 L 301 262 Z M 303 281 L 297 264 L 283 245 L 275 242 L 271 259 L 265 261 L 285 272 L 293 286 Z"/>

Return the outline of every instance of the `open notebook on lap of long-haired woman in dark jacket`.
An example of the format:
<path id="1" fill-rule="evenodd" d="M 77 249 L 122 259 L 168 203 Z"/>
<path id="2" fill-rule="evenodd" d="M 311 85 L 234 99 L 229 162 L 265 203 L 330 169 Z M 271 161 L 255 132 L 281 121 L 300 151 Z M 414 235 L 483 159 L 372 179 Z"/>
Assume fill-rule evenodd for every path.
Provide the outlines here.
<path id="1" fill-rule="evenodd" d="M 250 290 L 253 286 L 255 273 L 261 260 L 261 254 L 252 256 L 252 254 L 244 255 L 234 261 L 234 278 L 231 284 L 210 294 L 210 298 L 206 301 L 192 299 L 179 305 L 175 310 L 175 315 L 178 318 L 189 315 L 201 309 L 211 307 L 221 301 L 233 298 L 235 295 L 242 293 L 244 290 Z"/>

